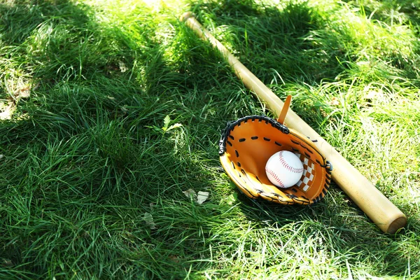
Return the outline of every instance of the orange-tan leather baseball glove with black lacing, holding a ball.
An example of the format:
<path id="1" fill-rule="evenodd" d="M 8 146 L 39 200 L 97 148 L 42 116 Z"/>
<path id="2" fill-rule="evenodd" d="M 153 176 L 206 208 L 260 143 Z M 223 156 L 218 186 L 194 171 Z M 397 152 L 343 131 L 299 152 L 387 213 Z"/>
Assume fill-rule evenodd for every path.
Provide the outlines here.
<path id="1" fill-rule="evenodd" d="M 219 146 L 226 173 L 242 193 L 253 199 L 313 204 L 330 188 L 330 162 L 311 140 L 272 118 L 247 116 L 228 123 Z M 265 164 L 278 151 L 292 151 L 302 161 L 304 172 L 295 186 L 277 188 L 267 178 Z"/>

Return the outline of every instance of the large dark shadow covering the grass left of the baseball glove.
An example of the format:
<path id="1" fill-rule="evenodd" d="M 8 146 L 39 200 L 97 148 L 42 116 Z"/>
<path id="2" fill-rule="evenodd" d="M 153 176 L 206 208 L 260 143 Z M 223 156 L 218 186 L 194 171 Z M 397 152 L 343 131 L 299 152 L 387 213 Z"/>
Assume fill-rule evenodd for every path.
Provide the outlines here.
<path id="1" fill-rule="evenodd" d="M 165 138 L 160 129 L 174 100 L 184 104 L 180 111 L 204 107 L 209 88 L 194 90 L 188 67 L 175 69 L 148 38 L 155 30 L 147 22 L 137 27 L 143 37 L 130 38 L 71 1 L 14 1 L 0 11 L 0 36 L 15 50 L 15 66 L 39 83 L 19 104 L 28 115 L 0 126 L 0 182 L 8 186 L 0 191 L 1 278 L 71 278 L 77 271 L 87 279 L 182 279 L 192 263 L 209 267 L 197 226 L 209 212 L 188 216 L 182 193 L 208 188 L 209 171 L 189 153 L 175 155 L 195 140 L 173 132 Z M 132 71 L 121 73 L 120 60 Z M 182 118 L 192 127 L 198 116 Z M 145 222 L 148 212 L 158 232 Z"/>

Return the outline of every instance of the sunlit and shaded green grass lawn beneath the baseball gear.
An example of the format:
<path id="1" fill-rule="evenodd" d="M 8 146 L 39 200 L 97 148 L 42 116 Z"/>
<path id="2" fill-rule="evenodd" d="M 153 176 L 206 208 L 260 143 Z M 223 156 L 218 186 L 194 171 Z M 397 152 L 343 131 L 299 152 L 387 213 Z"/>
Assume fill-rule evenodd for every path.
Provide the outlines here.
<path id="1" fill-rule="evenodd" d="M 0 279 L 419 279 L 420 1 L 277 2 L 0 0 Z M 272 113 L 187 10 L 407 227 L 337 186 L 311 207 L 241 195 L 221 130 Z"/>

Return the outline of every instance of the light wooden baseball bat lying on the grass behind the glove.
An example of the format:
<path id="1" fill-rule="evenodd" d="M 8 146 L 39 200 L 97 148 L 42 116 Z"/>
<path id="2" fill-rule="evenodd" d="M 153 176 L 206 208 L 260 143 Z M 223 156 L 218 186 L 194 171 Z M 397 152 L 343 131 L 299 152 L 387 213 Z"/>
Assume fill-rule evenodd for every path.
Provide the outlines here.
<path id="1" fill-rule="evenodd" d="M 257 77 L 251 73 L 244 64 L 234 57 L 225 46 L 222 45 L 207 29 L 204 29 L 198 22 L 193 13 L 184 13 L 181 21 L 185 22 L 190 29 L 195 31 L 197 36 L 207 40 L 217 48 L 230 66 L 235 70 L 236 75 L 242 80 L 248 89 L 252 90 L 264 102 L 276 116 L 279 116 L 283 108 L 283 102 Z M 318 133 L 316 133 L 307 123 L 304 122 L 296 113 L 289 110 L 286 116 L 288 127 L 307 135 L 311 139 L 318 140 L 315 144 L 319 150 L 330 160 L 334 170 L 332 180 L 349 195 L 360 209 L 384 232 L 394 234 L 407 224 L 407 217 L 395 207 L 377 188 L 375 188 L 365 176 L 360 174 L 345 158 L 340 155 L 335 148 L 332 148 Z"/>

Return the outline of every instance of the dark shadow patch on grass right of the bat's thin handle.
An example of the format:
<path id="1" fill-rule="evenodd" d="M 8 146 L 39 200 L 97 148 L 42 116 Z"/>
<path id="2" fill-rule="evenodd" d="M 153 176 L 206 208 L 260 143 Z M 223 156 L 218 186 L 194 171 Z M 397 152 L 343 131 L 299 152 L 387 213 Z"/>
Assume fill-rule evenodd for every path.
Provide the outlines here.
<path id="1" fill-rule="evenodd" d="M 311 36 L 322 31 L 324 19 L 307 3 L 286 3 L 283 9 L 248 1 L 207 1 L 191 10 L 202 24 L 221 27 L 216 36 L 227 38 L 238 59 L 262 80 L 313 83 L 335 78 L 339 61 L 346 57 L 344 45 L 334 33 L 323 33 L 319 52 Z M 261 55 L 259 55 L 261 54 Z"/>

